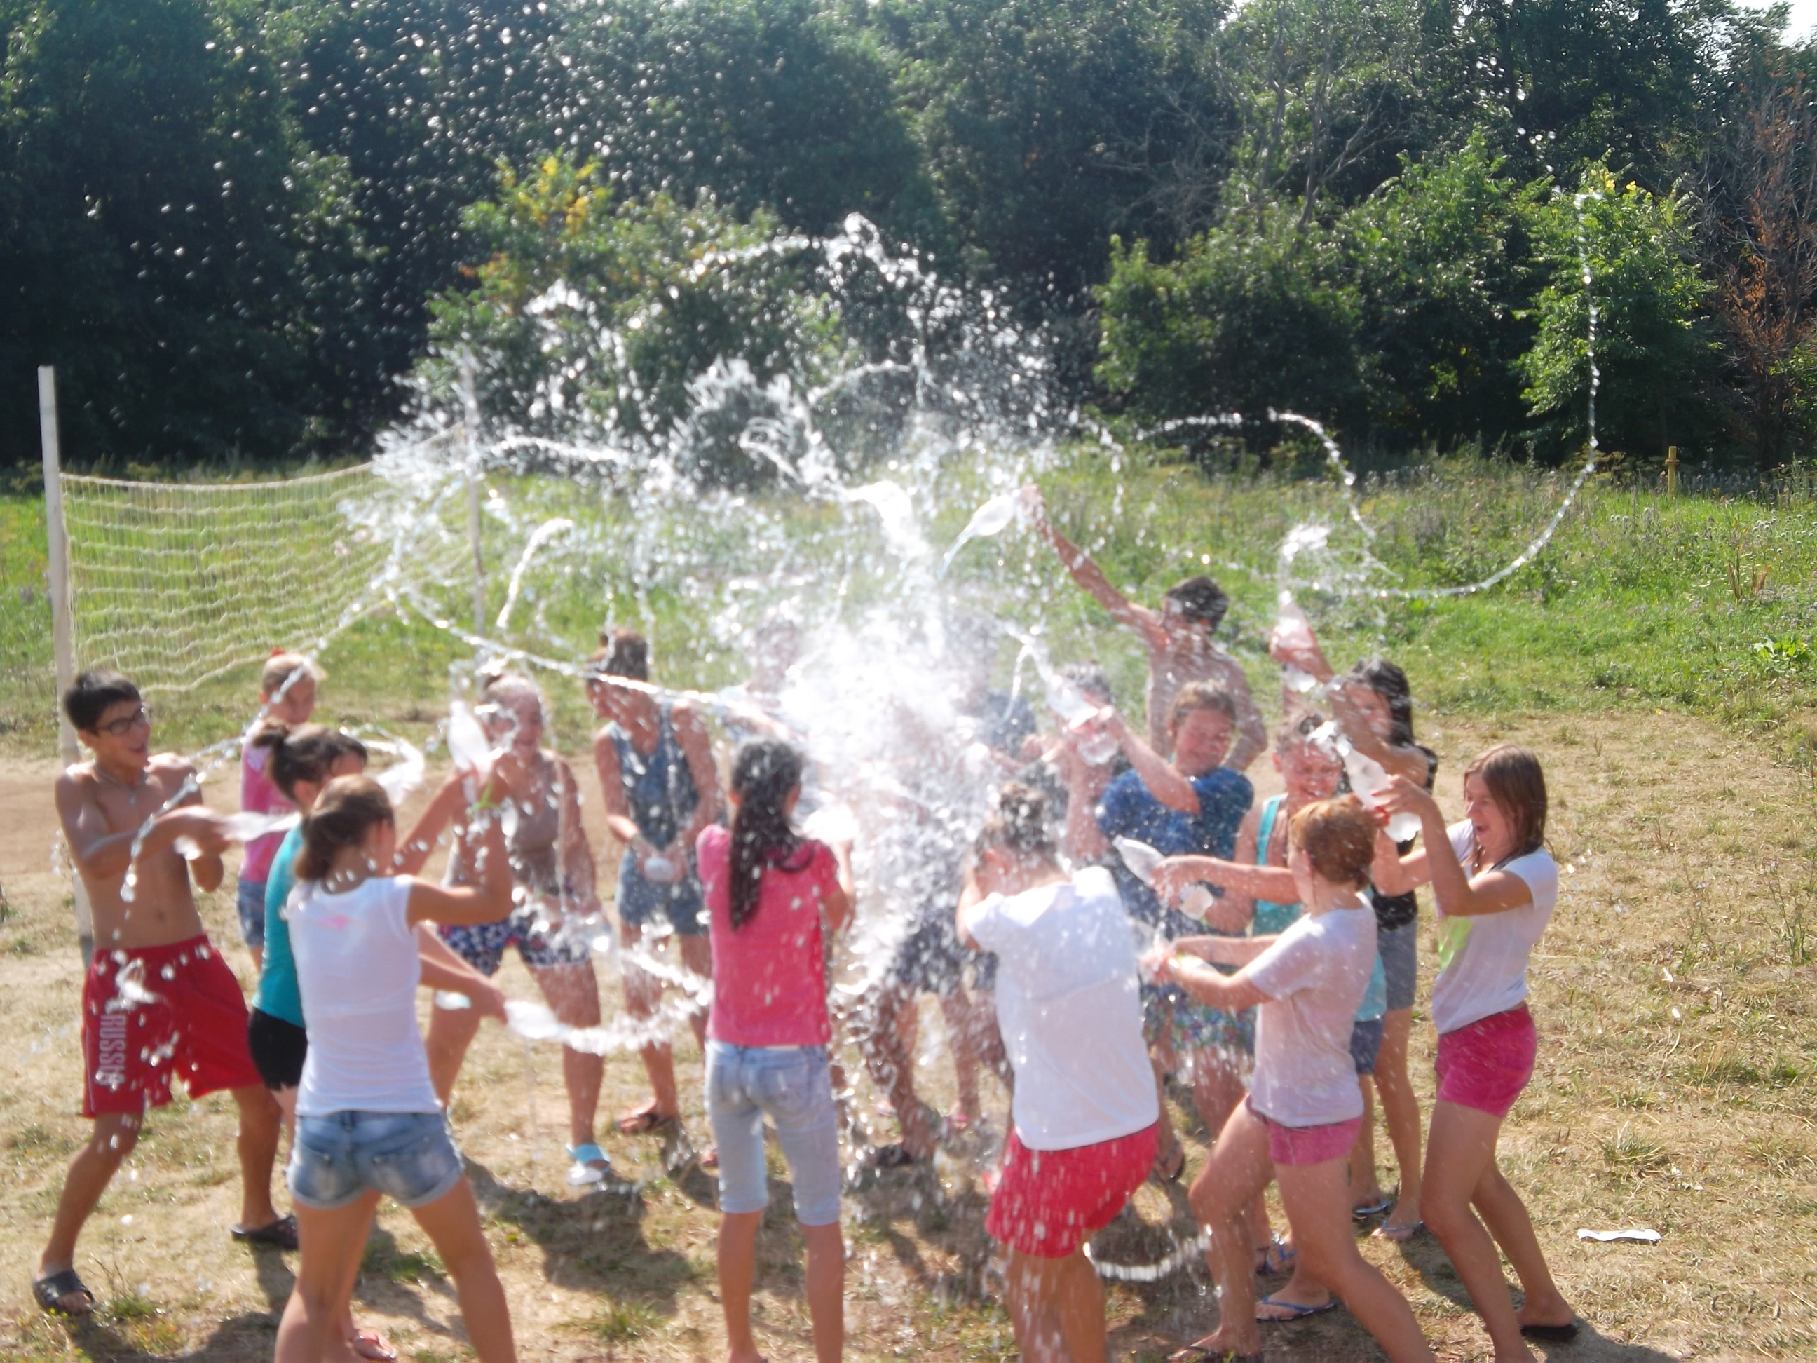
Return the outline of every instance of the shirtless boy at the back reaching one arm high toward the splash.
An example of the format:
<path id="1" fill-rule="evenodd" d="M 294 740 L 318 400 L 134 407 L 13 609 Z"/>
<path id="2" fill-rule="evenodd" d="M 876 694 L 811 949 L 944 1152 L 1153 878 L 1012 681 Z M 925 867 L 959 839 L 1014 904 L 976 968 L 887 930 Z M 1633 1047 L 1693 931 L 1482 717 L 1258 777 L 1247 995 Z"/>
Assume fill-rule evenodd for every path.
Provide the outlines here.
<path id="1" fill-rule="evenodd" d="M 1061 565 L 1110 616 L 1136 631 L 1148 651 L 1148 743 L 1161 756 L 1172 754 L 1167 720 L 1174 712 L 1174 696 L 1192 682 L 1216 682 L 1230 692 L 1237 707 L 1237 734 L 1230 745 L 1226 767 L 1246 771 L 1268 747 L 1268 727 L 1248 689 L 1243 665 L 1225 652 L 1212 638 L 1230 609 L 1225 589 L 1203 572 L 1176 582 L 1161 596 L 1161 609 L 1136 605 L 1110 585 L 1105 571 L 1072 540 L 1054 529 L 1041 502 L 1041 489 L 1023 489 L 1028 518 L 1041 536 L 1054 545 Z"/>

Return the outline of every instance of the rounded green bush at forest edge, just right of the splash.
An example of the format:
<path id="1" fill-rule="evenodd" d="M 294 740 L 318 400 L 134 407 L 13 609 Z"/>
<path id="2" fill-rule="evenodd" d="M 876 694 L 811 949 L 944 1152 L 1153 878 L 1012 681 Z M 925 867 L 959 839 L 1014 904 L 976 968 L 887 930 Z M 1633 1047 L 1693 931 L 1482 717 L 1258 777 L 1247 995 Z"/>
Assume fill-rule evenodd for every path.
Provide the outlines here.
<path id="1" fill-rule="evenodd" d="M 1254 231 L 1232 220 L 1179 260 L 1112 240 L 1099 380 L 1145 420 L 1270 407 L 1332 420 L 1357 398 L 1357 296 L 1335 242 L 1288 209 Z"/>

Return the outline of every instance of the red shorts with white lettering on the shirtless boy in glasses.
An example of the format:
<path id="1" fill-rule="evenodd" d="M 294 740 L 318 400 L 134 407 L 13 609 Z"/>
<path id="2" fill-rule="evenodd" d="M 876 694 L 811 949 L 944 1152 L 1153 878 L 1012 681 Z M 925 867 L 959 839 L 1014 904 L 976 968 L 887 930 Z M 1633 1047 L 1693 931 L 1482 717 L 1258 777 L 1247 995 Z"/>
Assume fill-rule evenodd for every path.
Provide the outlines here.
<path id="1" fill-rule="evenodd" d="M 245 1049 L 245 998 L 207 934 L 169 947 L 94 954 L 82 981 L 82 1116 L 140 1114 L 260 1083 Z"/>

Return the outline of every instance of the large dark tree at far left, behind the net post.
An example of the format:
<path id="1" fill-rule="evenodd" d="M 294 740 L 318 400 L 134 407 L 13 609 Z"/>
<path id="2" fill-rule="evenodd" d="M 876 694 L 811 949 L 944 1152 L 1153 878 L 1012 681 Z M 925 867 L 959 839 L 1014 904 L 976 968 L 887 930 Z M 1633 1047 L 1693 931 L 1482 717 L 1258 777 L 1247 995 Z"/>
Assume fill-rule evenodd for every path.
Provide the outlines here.
<path id="1" fill-rule="evenodd" d="M 323 409 L 300 267 L 352 249 L 271 62 L 200 0 L 0 0 L 0 460 L 55 363 L 73 462 L 269 460 Z"/>

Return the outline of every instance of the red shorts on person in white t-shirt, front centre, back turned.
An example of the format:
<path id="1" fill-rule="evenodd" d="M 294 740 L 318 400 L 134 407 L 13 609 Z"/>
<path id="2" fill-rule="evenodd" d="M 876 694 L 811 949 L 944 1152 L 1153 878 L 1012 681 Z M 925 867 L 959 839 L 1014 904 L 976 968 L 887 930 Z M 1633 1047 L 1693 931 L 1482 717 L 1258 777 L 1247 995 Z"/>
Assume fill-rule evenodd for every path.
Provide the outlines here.
<path id="1" fill-rule="evenodd" d="M 985 1230 L 1021 1254 L 1065 1259 L 1110 1225 L 1154 1165 L 1154 1127 L 1072 1150 L 1030 1150 L 1016 1132 Z"/>

